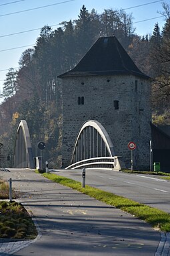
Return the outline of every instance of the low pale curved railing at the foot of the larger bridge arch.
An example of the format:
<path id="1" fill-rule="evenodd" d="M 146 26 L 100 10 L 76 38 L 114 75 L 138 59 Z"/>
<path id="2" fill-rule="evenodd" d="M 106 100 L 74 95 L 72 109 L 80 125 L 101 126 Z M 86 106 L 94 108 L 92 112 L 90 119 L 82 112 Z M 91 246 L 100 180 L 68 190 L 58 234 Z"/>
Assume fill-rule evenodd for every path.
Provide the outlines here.
<path id="1" fill-rule="evenodd" d="M 79 162 L 67 166 L 65 169 L 78 169 L 78 168 L 87 168 L 87 169 L 110 169 L 115 171 L 121 170 L 121 164 L 119 162 L 119 157 L 93 157 L 88 159 L 83 159 Z"/>

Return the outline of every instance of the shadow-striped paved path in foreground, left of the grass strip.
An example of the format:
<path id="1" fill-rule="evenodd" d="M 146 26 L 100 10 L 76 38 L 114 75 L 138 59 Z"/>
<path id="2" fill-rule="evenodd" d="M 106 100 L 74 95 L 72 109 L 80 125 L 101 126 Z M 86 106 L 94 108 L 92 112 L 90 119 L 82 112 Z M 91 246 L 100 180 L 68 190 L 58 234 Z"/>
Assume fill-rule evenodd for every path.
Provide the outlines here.
<path id="1" fill-rule="evenodd" d="M 159 244 L 161 234 L 145 222 L 31 170 L 9 171 L 1 171 L 0 178 L 12 178 L 19 200 L 35 216 L 40 232 L 31 243 L 0 243 L 0 255 L 168 255 L 169 244 L 166 254 L 161 254 L 163 234 Z"/>

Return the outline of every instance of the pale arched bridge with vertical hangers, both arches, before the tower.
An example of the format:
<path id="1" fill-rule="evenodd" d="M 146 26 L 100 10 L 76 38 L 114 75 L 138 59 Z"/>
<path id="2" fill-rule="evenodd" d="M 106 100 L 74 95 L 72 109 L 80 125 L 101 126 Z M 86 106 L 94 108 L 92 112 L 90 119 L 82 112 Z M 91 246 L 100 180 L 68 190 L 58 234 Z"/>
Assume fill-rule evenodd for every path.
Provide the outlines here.
<path id="1" fill-rule="evenodd" d="M 35 168 L 29 128 L 25 120 L 21 120 L 17 127 L 14 167 Z M 107 168 L 117 171 L 125 168 L 121 157 L 115 155 L 107 131 L 98 121 L 86 121 L 77 134 L 70 165 L 66 169 L 77 168 Z"/>

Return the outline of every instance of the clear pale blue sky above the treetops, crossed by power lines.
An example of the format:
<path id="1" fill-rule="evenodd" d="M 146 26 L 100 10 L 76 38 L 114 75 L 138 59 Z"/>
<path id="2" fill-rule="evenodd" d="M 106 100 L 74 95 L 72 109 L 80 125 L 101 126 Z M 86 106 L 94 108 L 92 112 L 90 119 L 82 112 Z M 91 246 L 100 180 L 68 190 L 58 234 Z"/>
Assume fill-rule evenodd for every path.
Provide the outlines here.
<path id="1" fill-rule="evenodd" d="M 35 45 L 44 25 L 57 29 L 62 21 L 77 19 L 83 5 L 97 13 L 104 9 L 125 9 L 133 15 L 135 33 L 145 36 L 152 34 L 155 23 L 163 27 L 165 19 L 158 13 L 163 11 L 162 3 L 156 0 L 0 0 L 0 92 L 9 68 L 17 70 L 21 54 Z"/>

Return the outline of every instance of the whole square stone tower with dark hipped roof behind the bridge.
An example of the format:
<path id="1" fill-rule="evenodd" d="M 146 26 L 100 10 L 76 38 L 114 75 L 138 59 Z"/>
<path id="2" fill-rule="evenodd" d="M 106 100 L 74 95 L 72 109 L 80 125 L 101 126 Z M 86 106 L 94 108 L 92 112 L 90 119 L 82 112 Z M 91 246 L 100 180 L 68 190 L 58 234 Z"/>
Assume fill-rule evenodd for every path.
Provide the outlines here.
<path id="1" fill-rule="evenodd" d="M 134 141 L 134 168 L 149 167 L 151 110 L 150 80 L 117 38 L 99 38 L 80 62 L 61 74 L 63 93 L 63 167 L 69 166 L 79 129 L 87 120 L 99 121 L 113 143 L 115 154 L 130 167 Z"/>

